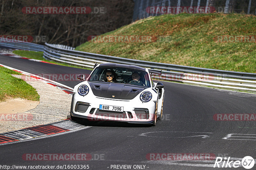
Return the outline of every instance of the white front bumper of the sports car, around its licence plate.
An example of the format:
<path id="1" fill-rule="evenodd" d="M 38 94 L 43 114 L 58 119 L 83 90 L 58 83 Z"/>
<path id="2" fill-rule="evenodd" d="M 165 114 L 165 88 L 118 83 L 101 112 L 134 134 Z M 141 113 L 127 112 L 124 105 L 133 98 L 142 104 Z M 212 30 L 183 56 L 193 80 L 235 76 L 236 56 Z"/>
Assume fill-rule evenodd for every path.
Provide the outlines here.
<path id="1" fill-rule="evenodd" d="M 87 95 L 86 95 L 87 96 Z M 99 110 L 100 104 L 124 107 L 124 112 L 111 112 Z M 72 97 L 71 116 L 89 119 L 92 121 L 108 120 L 127 122 L 132 124 L 152 124 L 155 114 L 156 102 L 138 102 L 136 97 L 132 100 L 114 100 L 97 96 L 83 97 L 75 93 Z"/>

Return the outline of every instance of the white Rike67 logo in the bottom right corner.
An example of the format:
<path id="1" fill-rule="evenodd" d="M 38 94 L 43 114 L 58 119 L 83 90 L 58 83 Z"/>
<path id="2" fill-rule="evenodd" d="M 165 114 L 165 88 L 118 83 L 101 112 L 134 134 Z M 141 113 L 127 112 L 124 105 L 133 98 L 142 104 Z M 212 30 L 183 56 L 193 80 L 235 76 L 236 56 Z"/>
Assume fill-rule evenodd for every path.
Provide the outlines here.
<path id="1" fill-rule="evenodd" d="M 254 159 L 251 156 L 246 156 L 242 159 L 242 161 L 240 160 L 235 160 L 234 158 L 232 158 L 233 160 L 231 160 L 230 157 L 228 157 L 228 159 L 225 157 L 224 159 L 221 157 L 216 157 L 215 160 L 215 164 L 214 164 L 214 168 L 218 167 L 218 168 L 237 168 L 240 166 L 243 166 L 245 169 L 251 169 L 254 166 Z"/>

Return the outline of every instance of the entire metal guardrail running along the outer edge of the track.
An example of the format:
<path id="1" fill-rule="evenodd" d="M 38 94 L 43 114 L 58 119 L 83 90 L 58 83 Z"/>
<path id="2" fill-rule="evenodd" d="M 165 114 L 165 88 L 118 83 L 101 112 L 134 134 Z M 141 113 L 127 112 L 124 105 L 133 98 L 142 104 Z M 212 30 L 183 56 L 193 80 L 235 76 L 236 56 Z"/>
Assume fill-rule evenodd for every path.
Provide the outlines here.
<path id="1" fill-rule="evenodd" d="M 200 67 L 180 66 L 143 60 L 133 60 L 109 55 L 87 53 L 74 50 L 74 47 L 48 44 L 45 46 L 26 42 L 0 42 L 0 46 L 19 48 L 31 51 L 44 51 L 44 58 L 64 62 L 76 66 L 93 68 L 97 63 L 109 61 L 120 64 L 138 65 L 151 69 L 162 69 L 162 75 L 152 75 L 152 78 L 164 81 L 178 81 L 187 84 L 232 89 L 256 93 L 256 74 L 216 70 Z"/>

